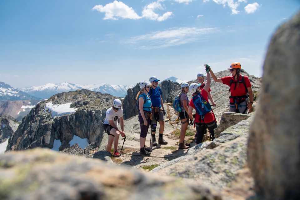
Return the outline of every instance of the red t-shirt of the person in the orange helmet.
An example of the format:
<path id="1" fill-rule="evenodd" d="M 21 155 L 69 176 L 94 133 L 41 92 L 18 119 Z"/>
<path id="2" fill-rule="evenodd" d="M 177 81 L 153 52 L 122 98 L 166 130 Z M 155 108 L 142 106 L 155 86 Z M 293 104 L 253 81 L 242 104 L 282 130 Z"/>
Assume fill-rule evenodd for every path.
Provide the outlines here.
<path id="1" fill-rule="evenodd" d="M 235 84 L 237 84 L 238 81 L 234 80 L 234 76 L 223 77 L 223 78 L 221 78 L 221 80 L 223 81 L 223 84 L 228 85 L 228 86 L 230 86 L 230 80 L 233 80 L 233 82 L 231 83 L 231 86 L 230 86 L 231 96 L 243 96 L 243 95 L 247 94 L 244 83 L 242 82 L 242 76 L 240 76 L 238 78 L 238 81 L 241 82 L 241 83 L 238 83 L 238 87 L 237 86 L 235 87 Z M 251 87 L 251 83 L 247 76 L 244 76 L 244 81 L 245 81 L 247 88 Z M 235 87 L 235 89 L 234 89 L 234 87 Z M 230 98 L 230 103 L 233 103 L 233 98 Z"/>

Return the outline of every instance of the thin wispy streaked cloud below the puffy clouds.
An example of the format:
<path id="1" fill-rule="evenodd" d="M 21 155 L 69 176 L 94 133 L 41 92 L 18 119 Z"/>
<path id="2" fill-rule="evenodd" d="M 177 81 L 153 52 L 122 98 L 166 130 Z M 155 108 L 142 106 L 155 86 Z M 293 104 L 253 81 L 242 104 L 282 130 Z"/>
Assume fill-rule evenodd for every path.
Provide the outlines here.
<path id="1" fill-rule="evenodd" d="M 180 27 L 132 37 L 124 43 L 139 49 L 163 48 L 203 40 L 208 37 L 206 35 L 216 31 L 216 28 Z"/>

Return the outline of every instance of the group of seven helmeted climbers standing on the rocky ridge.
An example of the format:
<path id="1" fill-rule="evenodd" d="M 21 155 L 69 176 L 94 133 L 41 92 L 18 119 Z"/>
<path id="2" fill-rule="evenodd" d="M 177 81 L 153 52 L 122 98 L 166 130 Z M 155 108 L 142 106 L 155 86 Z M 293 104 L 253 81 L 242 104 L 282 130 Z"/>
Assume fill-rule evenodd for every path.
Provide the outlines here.
<path id="1" fill-rule="evenodd" d="M 184 141 L 186 130 L 189 124 L 195 126 L 195 143 L 202 143 L 202 139 L 206 130 L 209 130 L 211 140 L 214 140 L 214 129 L 217 128 L 217 120 L 212 111 L 211 105 L 216 107 L 213 98 L 210 94 L 211 76 L 215 82 L 226 84 L 230 87 L 230 101 L 229 110 L 236 113 L 247 113 L 252 111 L 253 94 L 251 89 L 251 83 L 247 76 L 240 74 L 241 64 L 232 63 L 230 65 L 230 73 L 232 76 L 217 78 L 212 72 L 209 65 L 205 64 L 205 70 L 207 73 L 207 82 L 204 83 L 204 74 L 197 74 L 198 83 L 181 84 L 181 93 L 175 98 L 173 106 L 178 103 L 178 106 L 174 106 L 174 109 L 179 112 L 178 117 L 181 120 L 180 141 L 179 149 L 187 149 L 190 144 Z M 137 94 L 137 107 L 138 107 L 138 121 L 140 123 L 140 155 L 151 155 L 151 147 L 146 147 L 145 141 L 148 133 L 149 126 L 151 125 L 151 139 L 150 145 L 157 146 L 158 144 L 168 144 L 163 139 L 164 132 L 164 116 L 166 114 L 163 106 L 162 90 L 158 86 L 156 77 L 150 77 L 149 82 L 142 81 L 139 83 L 140 91 Z M 192 93 L 192 98 L 188 98 L 188 92 Z M 211 105 L 208 102 L 211 102 Z M 195 114 L 193 114 L 195 109 Z M 193 121 L 193 119 L 195 119 Z M 121 130 L 118 129 L 118 120 L 120 120 Z M 155 133 L 157 128 L 157 122 L 159 122 L 159 137 L 158 143 L 156 141 Z M 109 108 L 106 112 L 106 119 L 104 121 L 105 132 L 108 133 L 108 145 L 106 150 L 110 152 L 112 144 L 114 142 L 114 156 L 120 156 L 118 153 L 118 139 L 119 135 L 125 136 L 124 133 L 124 120 L 123 109 L 121 101 L 115 99 L 113 107 Z"/>

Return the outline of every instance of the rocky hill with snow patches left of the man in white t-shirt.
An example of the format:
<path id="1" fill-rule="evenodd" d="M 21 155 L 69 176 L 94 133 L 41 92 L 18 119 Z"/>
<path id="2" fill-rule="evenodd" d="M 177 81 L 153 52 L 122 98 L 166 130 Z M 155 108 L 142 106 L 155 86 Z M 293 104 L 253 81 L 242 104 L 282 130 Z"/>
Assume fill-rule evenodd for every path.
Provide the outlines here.
<path id="1" fill-rule="evenodd" d="M 88 143 L 99 142 L 103 134 L 105 112 L 115 97 L 89 90 L 60 93 L 42 101 L 22 119 L 9 138 L 8 150 L 58 146 L 70 147 L 75 137 Z"/>

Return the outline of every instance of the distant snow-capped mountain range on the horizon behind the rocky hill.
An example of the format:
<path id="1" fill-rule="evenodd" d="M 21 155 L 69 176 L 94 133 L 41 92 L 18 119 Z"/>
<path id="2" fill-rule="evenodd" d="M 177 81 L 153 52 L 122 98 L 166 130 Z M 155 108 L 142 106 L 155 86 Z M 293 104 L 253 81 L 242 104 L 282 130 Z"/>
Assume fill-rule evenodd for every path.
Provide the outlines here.
<path id="1" fill-rule="evenodd" d="M 33 95 L 39 98 L 49 98 L 54 94 L 75 91 L 80 89 L 88 89 L 95 92 L 108 93 L 116 97 L 125 97 L 127 95 L 128 88 L 133 87 L 133 85 L 109 85 L 106 83 L 100 83 L 98 85 L 80 85 L 68 82 L 63 82 L 59 84 L 47 83 L 42 86 L 32 86 L 29 88 L 22 88 L 21 90 L 25 93 Z"/>

